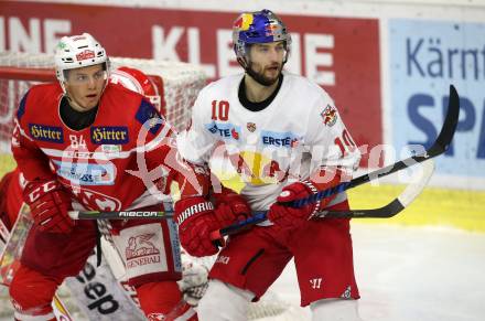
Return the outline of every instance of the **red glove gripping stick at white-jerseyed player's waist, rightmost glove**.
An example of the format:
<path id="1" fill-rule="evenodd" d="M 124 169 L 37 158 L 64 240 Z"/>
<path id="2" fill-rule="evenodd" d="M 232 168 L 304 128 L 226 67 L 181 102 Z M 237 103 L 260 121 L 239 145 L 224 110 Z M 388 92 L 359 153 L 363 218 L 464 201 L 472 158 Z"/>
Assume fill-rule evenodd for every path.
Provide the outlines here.
<path id="1" fill-rule="evenodd" d="M 268 218 L 281 227 L 300 226 L 317 211 L 320 201 L 298 208 L 287 206 L 284 203 L 305 199 L 316 193 L 316 188 L 310 181 L 297 182 L 283 188 L 277 203 L 269 207 Z"/>

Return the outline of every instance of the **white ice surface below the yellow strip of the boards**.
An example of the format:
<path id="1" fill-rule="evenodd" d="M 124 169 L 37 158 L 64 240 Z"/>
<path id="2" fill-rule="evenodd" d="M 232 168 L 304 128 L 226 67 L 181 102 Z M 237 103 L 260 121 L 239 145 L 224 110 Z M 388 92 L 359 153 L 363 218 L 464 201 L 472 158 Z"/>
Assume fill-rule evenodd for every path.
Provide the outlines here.
<path id="1" fill-rule="evenodd" d="M 485 234 L 362 223 L 353 223 L 352 233 L 363 320 L 483 320 Z M 292 263 L 271 287 L 271 296 L 294 306 L 292 313 L 300 313 L 301 320 L 310 320 L 310 309 L 297 307 L 300 295 Z M 4 312 L 10 307 L 1 298 Z"/>

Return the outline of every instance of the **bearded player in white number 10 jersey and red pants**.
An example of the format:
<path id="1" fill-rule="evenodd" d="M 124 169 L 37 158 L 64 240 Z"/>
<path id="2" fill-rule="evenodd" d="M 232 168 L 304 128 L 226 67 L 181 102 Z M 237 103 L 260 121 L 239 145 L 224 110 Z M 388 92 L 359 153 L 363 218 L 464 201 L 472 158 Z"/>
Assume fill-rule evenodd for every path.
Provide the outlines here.
<path id="1" fill-rule="evenodd" d="M 281 19 L 269 10 L 242 13 L 233 40 L 245 73 L 200 93 L 191 126 L 177 138 L 179 152 L 197 165 L 217 157 L 230 161 L 242 179 L 240 195 L 252 211 L 269 210 L 269 221 L 229 237 L 209 272 L 198 317 L 246 320 L 249 302 L 294 258 L 301 304 L 310 304 L 313 320 L 360 320 L 349 221 L 311 220 L 323 208 L 347 210 L 346 194 L 300 208 L 284 204 L 348 180 L 358 149 L 328 94 L 282 72 L 291 38 Z M 215 225 L 206 222 L 214 213 L 194 203 L 175 204 L 181 244 L 190 254 L 212 255 L 217 249 L 206 229 Z"/>

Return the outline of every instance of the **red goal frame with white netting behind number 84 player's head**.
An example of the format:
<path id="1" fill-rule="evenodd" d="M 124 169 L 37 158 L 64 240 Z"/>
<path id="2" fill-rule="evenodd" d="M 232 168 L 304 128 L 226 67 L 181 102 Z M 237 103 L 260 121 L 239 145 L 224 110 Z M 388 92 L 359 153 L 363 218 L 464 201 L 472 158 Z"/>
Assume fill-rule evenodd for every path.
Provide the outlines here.
<path id="1" fill-rule="evenodd" d="M 177 130 L 185 128 L 192 105 L 206 84 L 203 68 L 182 62 L 111 57 L 111 67 L 142 71 L 161 88 L 162 111 Z M 30 86 L 56 82 L 52 54 L 0 53 L 0 154 L 10 153 L 13 111 Z M 2 174 L 2 173 L 0 173 Z"/>

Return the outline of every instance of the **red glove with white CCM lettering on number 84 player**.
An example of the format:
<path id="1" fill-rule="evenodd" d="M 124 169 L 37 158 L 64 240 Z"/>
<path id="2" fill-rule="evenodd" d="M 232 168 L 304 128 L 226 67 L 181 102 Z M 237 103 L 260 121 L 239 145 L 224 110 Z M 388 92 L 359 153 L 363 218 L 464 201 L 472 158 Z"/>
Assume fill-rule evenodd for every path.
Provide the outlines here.
<path id="1" fill-rule="evenodd" d="M 71 196 L 57 181 L 29 182 L 23 190 L 23 200 L 30 206 L 40 231 L 69 233 L 73 229 L 75 223 L 67 214 Z"/>

